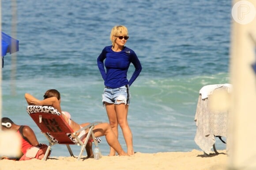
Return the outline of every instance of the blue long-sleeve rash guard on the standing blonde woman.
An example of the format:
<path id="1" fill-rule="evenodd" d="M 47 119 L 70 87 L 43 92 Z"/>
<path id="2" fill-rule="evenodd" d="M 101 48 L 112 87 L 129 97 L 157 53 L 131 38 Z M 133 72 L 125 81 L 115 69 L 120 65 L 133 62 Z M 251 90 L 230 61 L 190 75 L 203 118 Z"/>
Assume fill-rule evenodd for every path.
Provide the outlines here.
<path id="1" fill-rule="evenodd" d="M 110 88 L 119 88 L 127 84 L 131 86 L 142 70 L 139 58 L 128 47 L 124 47 L 120 52 L 114 52 L 111 47 L 105 47 L 97 59 L 98 68 L 102 74 L 105 86 Z M 103 63 L 104 60 L 106 72 Z M 131 63 L 134 65 L 135 71 L 128 81 L 127 72 Z"/>

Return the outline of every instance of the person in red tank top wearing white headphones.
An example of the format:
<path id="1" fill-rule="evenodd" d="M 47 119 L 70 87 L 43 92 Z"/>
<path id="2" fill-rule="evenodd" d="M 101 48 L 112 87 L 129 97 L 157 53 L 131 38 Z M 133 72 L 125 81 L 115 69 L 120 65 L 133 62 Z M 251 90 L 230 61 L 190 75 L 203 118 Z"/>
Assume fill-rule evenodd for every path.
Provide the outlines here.
<path id="1" fill-rule="evenodd" d="M 34 131 L 29 126 L 17 125 L 8 117 L 2 118 L 1 125 L 2 130 L 14 130 L 21 138 L 19 156 L 16 158 L 8 158 L 4 156 L 2 159 L 29 160 L 32 158 L 42 159 L 44 157 L 47 145 L 39 144 Z"/>

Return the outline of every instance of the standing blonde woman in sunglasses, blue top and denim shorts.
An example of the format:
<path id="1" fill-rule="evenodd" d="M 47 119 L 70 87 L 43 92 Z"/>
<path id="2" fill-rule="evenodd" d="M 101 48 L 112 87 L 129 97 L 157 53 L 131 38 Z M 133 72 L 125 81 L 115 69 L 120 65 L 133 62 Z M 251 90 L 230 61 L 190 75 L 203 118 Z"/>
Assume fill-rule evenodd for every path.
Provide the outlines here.
<path id="1" fill-rule="evenodd" d="M 102 50 L 97 64 L 105 84 L 102 102 L 106 108 L 109 124 L 117 137 L 118 125 L 120 125 L 127 145 L 127 153 L 134 155 L 132 131 L 128 125 L 127 116 L 131 97 L 130 86 L 139 76 L 142 67 L 135 52 L 124 46 L 128 38 L 128 30 L 125 26 L 114 26 L 110 33 L 112 45 Z M 131 63 L 134 65 L 135 71 L 128 80 L 127 72 Z M 110 148 L 109 156 L 114 155 L 115 150 Z"/>

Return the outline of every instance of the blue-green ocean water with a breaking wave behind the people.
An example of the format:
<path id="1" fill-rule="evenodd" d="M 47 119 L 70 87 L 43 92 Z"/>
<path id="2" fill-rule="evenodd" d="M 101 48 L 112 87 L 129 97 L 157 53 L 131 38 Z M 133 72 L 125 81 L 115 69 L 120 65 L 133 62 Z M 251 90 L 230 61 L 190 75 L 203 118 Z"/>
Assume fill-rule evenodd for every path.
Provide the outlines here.
<path id="1" fill-rule="evenodd" d="M 24 94 L 42 98 L 55 88 L 76 122 L 108 122 L 96 59 L 111 45 L 112 27 L 125 25 L 126 46 L 143 66 L 128 112 L 135 152 L 200 149 L 194 142 L 199 90 L 229 83 L 231 0 L 26 0 L 1 6 L 2 31 L 16 30 L 19 40 L 19 52 L 4 57 L 2 116 L 29 125 L 39 142 L 48 143 L 26 113 Z M 131 65 L 128 78 L 133 71 Z M 126 150 L 120 128 L 119 141 Z M 226 146 L 217 140 L 216 148 Z M 79 154 L 79 147 L 72 149 Z M 109 152 L 105 137 L 100 149 Z M 69 153 L 54 145 L 51 156 Z"/>

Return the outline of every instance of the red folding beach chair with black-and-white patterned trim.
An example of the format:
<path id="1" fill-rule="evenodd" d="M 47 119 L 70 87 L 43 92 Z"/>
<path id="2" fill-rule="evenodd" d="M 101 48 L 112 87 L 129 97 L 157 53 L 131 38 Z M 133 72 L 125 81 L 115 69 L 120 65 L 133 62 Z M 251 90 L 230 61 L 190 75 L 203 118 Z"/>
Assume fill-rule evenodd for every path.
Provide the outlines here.
<path id="1" fill-rule="evenodd" d="M 47 155 L 52 145 L 55 144 L 66 145 L 70 156 L 73 157 L 75 156 L 73 155 L 69 145 L 81 146 L 77 160 L 81 158 L 90 136 L 92 137 L 95 146 L 98 146 L 98 141 L 94 136 L 93 128 L 94 125 L 102 122 L 90 123 L 87 127 L 83 127 L 82 129 L 74 132 L 61 116 L 60 112 L 52 106 L 29 105 L 27 106 L 26 111 L 49 141 L 49 146 L 45 152 L 43 160 L 47 159 Z M 86 139 L 81 141 L 76 134 L 85 129 L 87 129 L 88 134 Z"/>

